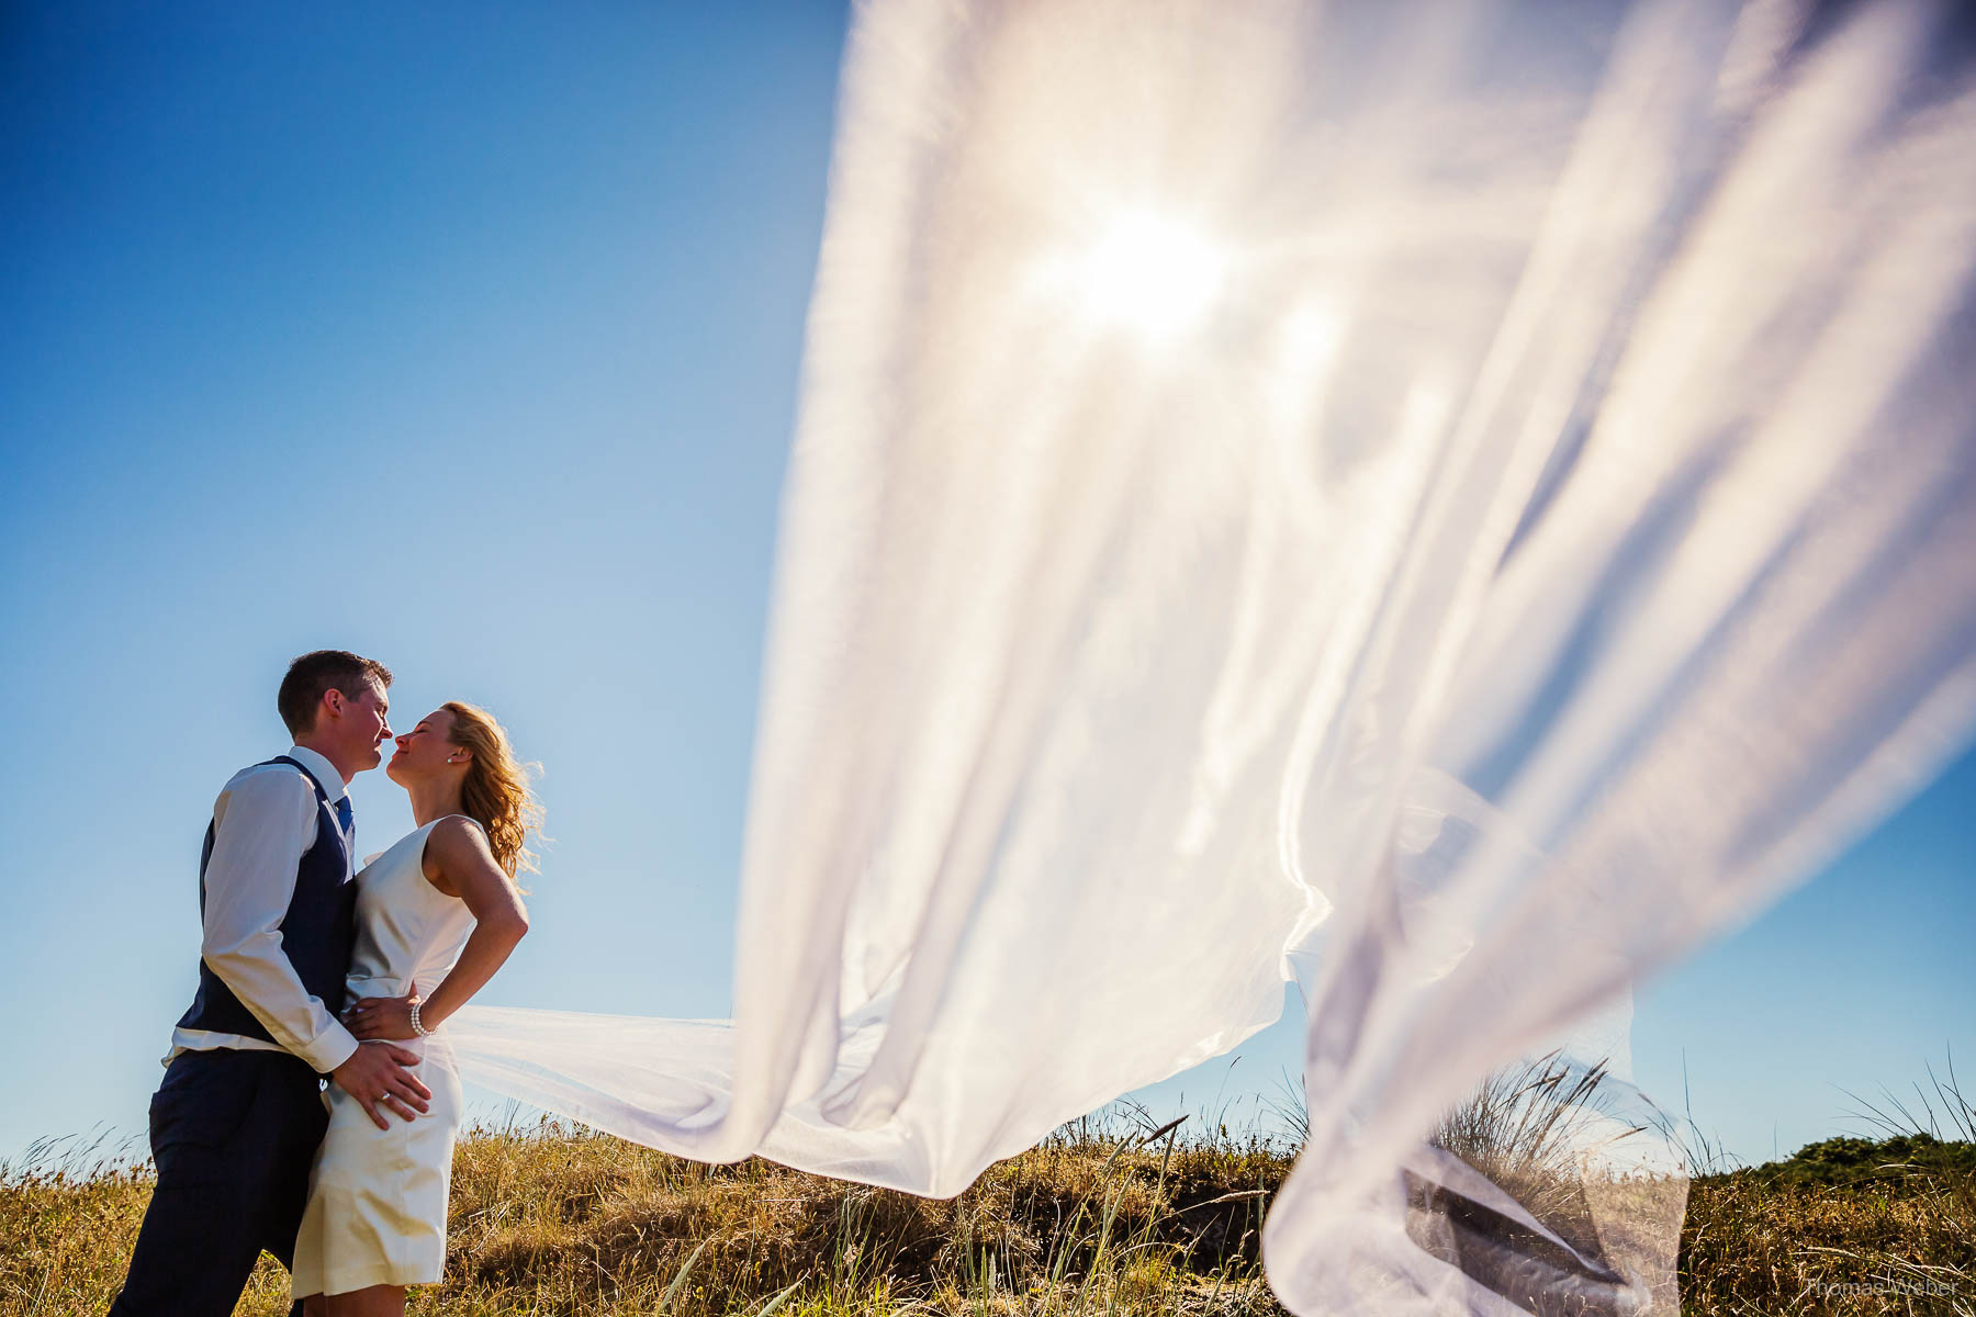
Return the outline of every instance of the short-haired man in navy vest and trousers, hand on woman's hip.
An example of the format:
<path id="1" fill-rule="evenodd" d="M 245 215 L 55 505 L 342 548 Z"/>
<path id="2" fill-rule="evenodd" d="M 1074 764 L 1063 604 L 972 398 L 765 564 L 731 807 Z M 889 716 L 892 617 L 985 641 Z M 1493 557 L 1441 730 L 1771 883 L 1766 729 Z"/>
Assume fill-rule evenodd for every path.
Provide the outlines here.
<path id="1" fill-rule="evenodd" d="M 356 938 L 348 782 L 391 736 L 383 663 L 294 659 L 277 705 L 287 754 L 243 768 L 200 857 L 200 991 L 150 1100 L 158 1189 L 111 1317 L 225 1317 L 261 1250 L 294 1262 L 308 1169 L 328 1125 L 318 1074 L 377 1127 L 433 1096 L 417 1056 L 358 1043 L 336 1015 Z"/>

